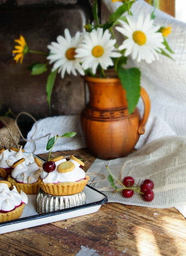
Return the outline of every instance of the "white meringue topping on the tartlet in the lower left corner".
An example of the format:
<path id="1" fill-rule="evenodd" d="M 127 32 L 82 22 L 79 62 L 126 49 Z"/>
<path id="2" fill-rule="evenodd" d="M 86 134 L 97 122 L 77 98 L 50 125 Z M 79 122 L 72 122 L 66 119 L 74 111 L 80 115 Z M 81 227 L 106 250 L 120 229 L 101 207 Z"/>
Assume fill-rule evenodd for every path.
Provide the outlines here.
<path id="1" fill-rule="evenodd" d="M 17 191 L 16 187 L 10 190 L 6 183 L 0 183 L 0 210 L 11 211 L 15 206 L 20 206 L 21 203 L 28 203 L 26 193 Z"/>

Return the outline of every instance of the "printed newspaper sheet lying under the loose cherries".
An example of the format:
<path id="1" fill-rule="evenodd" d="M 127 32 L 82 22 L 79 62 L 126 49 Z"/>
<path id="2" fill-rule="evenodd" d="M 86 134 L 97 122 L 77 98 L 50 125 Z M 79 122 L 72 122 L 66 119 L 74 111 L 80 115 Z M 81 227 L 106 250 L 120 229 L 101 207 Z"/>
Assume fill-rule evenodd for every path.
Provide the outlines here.
<path id="1" fill-rule="evenodd" d="M 114 193 L 105 165 L 120 181 L 126 176 L 132 176 L 135 184 L 147 178 L 153 180 L 153 201 L 145 202 L 139 193 L 134 193 L 132 198 L 123 198 L 121 192 Z M 127 157 L 96 159 L 88 173 L 89 184 L 107 195 L 108 202 L 154 208 L 186 205 L 186 136 L 157 139 Z"/>

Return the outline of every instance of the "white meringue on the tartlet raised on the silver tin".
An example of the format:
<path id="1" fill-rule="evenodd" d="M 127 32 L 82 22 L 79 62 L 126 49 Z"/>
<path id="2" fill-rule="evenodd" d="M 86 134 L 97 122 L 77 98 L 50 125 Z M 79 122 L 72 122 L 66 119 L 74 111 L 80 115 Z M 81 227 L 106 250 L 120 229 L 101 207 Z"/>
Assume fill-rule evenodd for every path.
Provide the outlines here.
<path id="1" fill-rule="evenodd" d="M 81 179 L 85 178 L 85 171 L 83 171 L 82 168 L 80 168 L 80 164 L 77 161 L 74 161 L 73 159 L 70 159 L 70 162 L 73 162 L 75 167 L 72 171 L 67 172 L 67 173 L 60 173 L 57 170 L 57 167 L 59 166 L 59 164 L 61 164 L 62 162 L 65 162 L 66 159 L 63 158 L 57 162 L 55 162 L 56 164 L 56 168 L 55 171 L 52 171 L 50 173 L 47 173 L 46 171 L 42 170 L 40 177 L 42 178 L 42 181 L 44 183 L 59 183 L 59 182 L 74 182 L 74 181 L 79 181 Z"/>

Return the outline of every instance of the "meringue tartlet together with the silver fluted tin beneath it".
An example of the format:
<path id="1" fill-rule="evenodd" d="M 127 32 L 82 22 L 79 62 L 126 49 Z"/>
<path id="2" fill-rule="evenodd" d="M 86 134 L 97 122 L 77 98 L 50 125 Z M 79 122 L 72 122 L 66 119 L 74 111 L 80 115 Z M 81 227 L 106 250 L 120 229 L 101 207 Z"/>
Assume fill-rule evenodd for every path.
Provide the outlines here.
<path id="1" fill-rule="evenodd" d="M 56 159 L 53 159 L 55 161 Z M 39 213 L 57 211 L 86 203 L 84 188 L 90 177 L 81 168 L 84 163 L 74 156 L 57 159 L 55 170 L 41 171 L 41 184 L 36 196 L 36 210 Z"/>

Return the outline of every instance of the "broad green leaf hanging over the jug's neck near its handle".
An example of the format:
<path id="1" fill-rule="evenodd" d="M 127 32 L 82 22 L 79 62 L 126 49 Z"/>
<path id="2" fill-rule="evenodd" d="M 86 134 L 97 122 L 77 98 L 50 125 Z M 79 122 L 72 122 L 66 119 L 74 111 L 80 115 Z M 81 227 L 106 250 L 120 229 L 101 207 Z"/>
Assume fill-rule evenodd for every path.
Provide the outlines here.
<path id="1" fill-rule="evenodd" d="M 140 98 L 141 72 L 137 67 L 131 67 L 129 69 L 120 67 L 118 70 L 118 76 L 123 88 L 126 90 L 128 110 L 130 115 L 134 111 Z"/>

